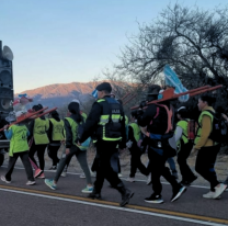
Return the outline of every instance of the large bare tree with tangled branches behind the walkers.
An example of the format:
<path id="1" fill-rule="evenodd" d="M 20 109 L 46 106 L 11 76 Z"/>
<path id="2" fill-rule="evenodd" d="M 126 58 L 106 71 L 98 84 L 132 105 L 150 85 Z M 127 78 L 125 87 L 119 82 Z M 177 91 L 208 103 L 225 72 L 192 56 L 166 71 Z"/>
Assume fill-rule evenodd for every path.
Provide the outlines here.
<path id="1" fill-rule="evenodd" d="M 224 84 L 228 99 L 228 7 L 213 12 L 179 3 L 168 5 L 122 50 L 116 74 L 125 80 L 148 84 L 170 65 L 189 88 Z M 129 79 L 130 78 L 130 79 Z"/>

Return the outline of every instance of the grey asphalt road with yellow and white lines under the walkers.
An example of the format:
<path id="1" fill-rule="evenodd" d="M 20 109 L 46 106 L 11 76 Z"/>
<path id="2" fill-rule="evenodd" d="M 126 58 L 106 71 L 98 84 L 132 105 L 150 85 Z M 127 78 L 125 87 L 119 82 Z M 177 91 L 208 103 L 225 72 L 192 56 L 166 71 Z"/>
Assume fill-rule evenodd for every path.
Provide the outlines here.
<path id="1" fill-rule="evenodd" d="M 5 168 L 0 168 L 4 174 Z M 46 178 L 55 172 L 46 171 Z M 202 195 L 207 188 L 194 187 L 174 203 L 170 203 L 171 187 L 163 184 L 163 204 L 149 204 L 144 199 L 152 193 L 151 187 L 145 182 L 125 182 L 135 192 L 130 203 L 122 208 L 121 195 L 105 182 L 102 200 L 90 200 L 81 193 L 86 179 L 72 172 L 60 178 L 57 190 L 50 190 L 43 179 L 36 184 L 25 185 L 26 176 L 18 167 L 12 174 L 12 183 L 0 181 L 1 218 L 0 225 L 11 226 L 121 226 L 121 225 L 228 225 L 228 192 L 220 200 L 205 200 Z"/>

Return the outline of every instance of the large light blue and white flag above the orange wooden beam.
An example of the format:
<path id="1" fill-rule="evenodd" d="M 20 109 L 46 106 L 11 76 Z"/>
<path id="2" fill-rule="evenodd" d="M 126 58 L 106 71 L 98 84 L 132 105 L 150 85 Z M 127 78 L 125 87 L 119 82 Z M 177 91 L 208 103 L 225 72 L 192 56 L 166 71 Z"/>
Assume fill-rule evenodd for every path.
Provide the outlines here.
<path id="1" fill-rule="evenodd" d="M 181 80 L 179 79 L 175 71 L 172 70 L 169 65 L 164 66 L 163 72 L 164 72 L 164 78 L 166 78 L 166 84 L 169 86 L 169 87 L 174 87 L 175 88 L 175 90 L 174 90 L 175 94 L 187 91 L 187 89 L 185 87 L 183 87 L 183 84 L 181 83 Z M 190 99 L 190 95 L 186 94 L 186 95 L 180 97 L 179 101 L 180 102 L 186 102 L 189 99 Z"/>

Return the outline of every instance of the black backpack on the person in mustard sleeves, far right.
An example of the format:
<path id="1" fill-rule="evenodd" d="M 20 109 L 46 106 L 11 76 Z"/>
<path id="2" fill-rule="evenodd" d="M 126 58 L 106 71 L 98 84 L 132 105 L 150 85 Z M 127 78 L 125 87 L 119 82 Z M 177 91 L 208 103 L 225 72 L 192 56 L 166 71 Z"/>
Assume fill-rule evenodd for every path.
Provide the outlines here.
<path id="1" fill-rule="evenodd" d="M 216 114 L 210 110 L 206 110 L 206 111 L 209 112 L 214 116 L 213 131 L 209 135 L 209 139 L 216 143 L 220 143 L 220 144 L 227 143 L 228 127 L 227 127 L 226 120 L 223 116 L 217 117 Z"/>

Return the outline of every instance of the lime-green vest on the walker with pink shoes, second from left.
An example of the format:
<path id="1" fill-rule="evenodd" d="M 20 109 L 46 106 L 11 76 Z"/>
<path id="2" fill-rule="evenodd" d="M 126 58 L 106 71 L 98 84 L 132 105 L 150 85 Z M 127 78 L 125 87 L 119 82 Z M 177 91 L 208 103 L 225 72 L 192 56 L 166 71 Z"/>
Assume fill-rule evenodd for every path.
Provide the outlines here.
<path id="1" fill-rule="evenodd" d="M 35 145 L 47 145 L 49 144 L 49 139 L 47 137 L 47 131 L 49 128 L 49 121 L 35 118 L 34 128 L 33 128 L 33 136 Z"/>

